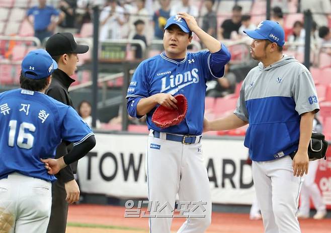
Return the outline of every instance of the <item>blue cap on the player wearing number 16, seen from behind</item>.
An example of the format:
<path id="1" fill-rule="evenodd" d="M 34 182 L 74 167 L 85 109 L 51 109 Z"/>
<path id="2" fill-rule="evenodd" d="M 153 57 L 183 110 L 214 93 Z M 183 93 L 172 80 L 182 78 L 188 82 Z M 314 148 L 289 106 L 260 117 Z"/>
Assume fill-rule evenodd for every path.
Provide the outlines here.
<path id="1" fill-rule="evenodd" d="M 22 61 L 22 74 L 30 79 L 40 80 L 57 69 L 57 63 L 45 49 L 30 51 Z"/>

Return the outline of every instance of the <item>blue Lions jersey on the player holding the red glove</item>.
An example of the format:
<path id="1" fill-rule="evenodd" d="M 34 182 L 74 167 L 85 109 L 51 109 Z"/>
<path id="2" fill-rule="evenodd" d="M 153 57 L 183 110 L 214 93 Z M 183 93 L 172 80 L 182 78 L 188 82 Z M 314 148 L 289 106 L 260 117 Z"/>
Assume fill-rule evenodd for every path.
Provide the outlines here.
<path id="1" fill-rule="evenodd" d="M 214 54 L 217 62 L 211 62 L 211 56 Z M 214 54 L 209 51 L 187 53 L 184 60 L 176 61 L 161 53 L 141 62 L 133 74 L 126 96 L 130 116 L 141 117 L 136 113 L 141 98 L 158 93 L 169 93 L 174 96 L 183 94 L 188 101 L 188 110 L 185 119 L 179 125 L 165 129 L 157 127 L 151 121 L 154 108 L 147 113 L 148 128 L 160 132 L 200 135 L 203 129 L 206 82 L 222 77 L 224 65 L 230 59 L 224 45 Z"/>

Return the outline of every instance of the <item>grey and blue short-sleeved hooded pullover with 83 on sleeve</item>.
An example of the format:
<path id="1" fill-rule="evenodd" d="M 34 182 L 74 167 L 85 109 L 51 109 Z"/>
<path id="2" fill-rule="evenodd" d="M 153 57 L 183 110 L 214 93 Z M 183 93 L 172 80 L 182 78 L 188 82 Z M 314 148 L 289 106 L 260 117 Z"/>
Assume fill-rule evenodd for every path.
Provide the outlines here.
<path id="1" fill-rule="evenodd" d="M 242 83 L 234 114 L 249 122 L 244 145 L 252 161 L 270 161 L 298 149 L 301 114 L 319 111 L 309 70 L 293 56 L 253 68 Z"/>

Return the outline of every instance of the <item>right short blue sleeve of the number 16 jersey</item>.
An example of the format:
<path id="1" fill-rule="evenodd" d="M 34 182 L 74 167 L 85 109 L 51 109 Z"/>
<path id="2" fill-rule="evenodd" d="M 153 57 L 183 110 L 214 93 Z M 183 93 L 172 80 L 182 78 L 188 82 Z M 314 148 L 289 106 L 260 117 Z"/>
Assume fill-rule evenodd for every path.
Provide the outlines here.
<path id="1" fill-rule="evenodd" d="M 63 117 L 61 138 L 77 145 L 93 134 L 92 129 L 81 119 L 78 113 L 72 107 L 68 107 Z"/>

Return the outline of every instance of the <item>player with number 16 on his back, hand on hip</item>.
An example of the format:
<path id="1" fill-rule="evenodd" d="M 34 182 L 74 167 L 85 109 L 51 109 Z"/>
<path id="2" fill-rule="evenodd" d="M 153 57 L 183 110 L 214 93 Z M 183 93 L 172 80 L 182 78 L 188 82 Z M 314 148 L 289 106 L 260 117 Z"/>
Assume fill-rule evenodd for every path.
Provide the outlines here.
<path id="1" fill-rule="evenodd" d="M 22 61 L 22 89 L 0 94 L 0 232 L 46 232 L 52 174 L 96 143 L 72 107 L 44 94 L 56 68 L 45 50 L 33 50 Z M 73 149 L 47 159 L 54 158 L 62 139 L 73 142 Z"/>

